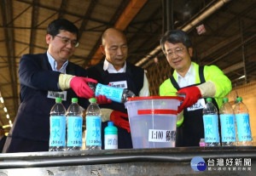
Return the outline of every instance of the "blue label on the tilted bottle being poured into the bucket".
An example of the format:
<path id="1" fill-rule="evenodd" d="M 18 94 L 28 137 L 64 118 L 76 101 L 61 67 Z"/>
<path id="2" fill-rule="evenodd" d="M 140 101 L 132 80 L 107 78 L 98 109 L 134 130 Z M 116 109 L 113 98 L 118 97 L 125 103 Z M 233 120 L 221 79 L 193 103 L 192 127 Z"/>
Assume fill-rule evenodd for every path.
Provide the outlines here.
<path id="1" fill-rule="evenodd" d="M 115 102 L 121 103 L 122 95 L 124 92 L 124 88 L 114 88 L 111 86 L 106 86 L 101 83 L 97 84 L 95 95 L 99 94 L 105 95 L 107 99 L 111 99 Z"/>

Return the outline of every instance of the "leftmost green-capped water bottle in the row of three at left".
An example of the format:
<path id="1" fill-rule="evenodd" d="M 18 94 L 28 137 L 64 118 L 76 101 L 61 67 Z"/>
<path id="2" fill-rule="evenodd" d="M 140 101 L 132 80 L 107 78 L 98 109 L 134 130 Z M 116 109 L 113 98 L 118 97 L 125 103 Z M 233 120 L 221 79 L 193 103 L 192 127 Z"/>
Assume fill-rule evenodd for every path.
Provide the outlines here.
<path id="1" fill-rule="evenodd" d="M 49 112 L 49 151 L 63 151 L 66 147 L 66 109 L 61 98 L 55 99 Z"/>

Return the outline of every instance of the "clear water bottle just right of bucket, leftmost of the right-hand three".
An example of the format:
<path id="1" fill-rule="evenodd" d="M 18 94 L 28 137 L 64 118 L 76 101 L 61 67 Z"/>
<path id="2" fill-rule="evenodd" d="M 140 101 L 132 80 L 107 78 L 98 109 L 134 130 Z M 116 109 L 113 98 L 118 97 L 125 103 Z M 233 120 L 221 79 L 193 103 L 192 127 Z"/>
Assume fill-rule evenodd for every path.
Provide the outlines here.
<path id="1" fill-rule="evenodd" d="M 218 110 L 212 104 L 212 98 L 207 98 L 207 104 L 203 109 L 203 122 L 205 142 L 207 146 L 220 146 L 218 133 Z"/>

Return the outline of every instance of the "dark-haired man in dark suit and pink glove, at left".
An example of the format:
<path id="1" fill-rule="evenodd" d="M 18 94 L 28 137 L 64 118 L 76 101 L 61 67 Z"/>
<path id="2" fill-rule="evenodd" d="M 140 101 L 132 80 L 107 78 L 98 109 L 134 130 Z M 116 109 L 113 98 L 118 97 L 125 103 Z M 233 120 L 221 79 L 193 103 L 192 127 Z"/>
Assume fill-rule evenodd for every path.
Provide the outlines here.
<path id="1" fill-rule="evenodd" d="M 64 19 L 52 21 L 47 28 L 44 54 L 25 54 L 20 59 L 20 107 L 9 131 L 3 152 L 49 150 L 49 111 L 55 98 L 67 107 L 73 97 L 86 108 L 94 96 L 87 82 L 87 71 L 69 62 L 78 47 L 79 29 Z"/>

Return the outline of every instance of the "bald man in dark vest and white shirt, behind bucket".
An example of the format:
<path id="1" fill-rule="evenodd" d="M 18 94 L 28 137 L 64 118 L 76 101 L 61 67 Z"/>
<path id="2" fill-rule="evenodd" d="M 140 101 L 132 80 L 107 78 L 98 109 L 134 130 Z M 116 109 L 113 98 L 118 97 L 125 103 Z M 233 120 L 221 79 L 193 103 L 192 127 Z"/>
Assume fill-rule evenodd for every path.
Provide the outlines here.
<path id="1" fill-rule="evenodd" d="M 109 28 L 102 35 L 102 54 L 106 56 L 103 63 L 88 69 L 89 77 L 102 84 L 111 84 L 119 88 L 128 88 L 136 96 L 148 96 L 148 79 L 142 68 L 126 62 L 128 46 L 122 31 Z M 118 127 L 119 149 L 132 148 L 130 125 L 125 105 L 112 102 L 100 105 L 102 110 L 102 149 L 104 149 L 104 128 L 108 121 Z"/>

